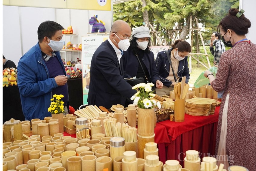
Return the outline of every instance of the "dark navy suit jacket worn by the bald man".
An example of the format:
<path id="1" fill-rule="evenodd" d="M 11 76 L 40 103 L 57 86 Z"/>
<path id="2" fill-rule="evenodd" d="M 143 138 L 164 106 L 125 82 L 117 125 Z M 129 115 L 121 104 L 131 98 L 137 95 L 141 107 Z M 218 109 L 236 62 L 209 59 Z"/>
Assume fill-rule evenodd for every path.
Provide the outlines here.
<path id="1" fill-rule="evenodd" d="M 121 65 L 120 65 L 121 64 Z M 124 80 L 123 63 L 111 44 L 106 40 L 92 55 L 91 78 L 88 104 L 104 106 L 107 109 L 114 104 L 125 106 L 126 99 L 137 92 Z"/>

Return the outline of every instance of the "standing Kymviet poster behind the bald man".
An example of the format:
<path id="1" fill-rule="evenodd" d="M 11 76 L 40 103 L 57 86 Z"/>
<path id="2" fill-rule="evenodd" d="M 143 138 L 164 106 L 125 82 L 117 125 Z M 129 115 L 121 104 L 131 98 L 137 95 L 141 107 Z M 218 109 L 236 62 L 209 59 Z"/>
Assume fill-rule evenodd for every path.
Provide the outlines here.
<path id="1" fill-rule="evenodd" d="M 90 85 L 90 66 L 92 55 L 102 42 L 108 39 L 108 35 L 82 37 L 82 64 L 83 64 L 83 104 L 87 104 Z"/>

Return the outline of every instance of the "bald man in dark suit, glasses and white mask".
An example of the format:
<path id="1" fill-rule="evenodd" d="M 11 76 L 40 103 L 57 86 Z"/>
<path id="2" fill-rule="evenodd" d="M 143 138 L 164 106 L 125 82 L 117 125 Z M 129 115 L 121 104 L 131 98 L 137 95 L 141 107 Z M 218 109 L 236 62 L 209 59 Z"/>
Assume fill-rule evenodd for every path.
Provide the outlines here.
<path id="1" fill-rule="evenodd" d="M 103 42 L 92 55 L 91 79 L 88 93 L 88 105 L 104 106 L 122 104 L 137 92 L 132 90 L 124 78 L 130 78 L 123 72 L 120 58 L 123 50 L 130 46 L 130 26 L 117 20 L 113 23 L 108 40 Z"/>

